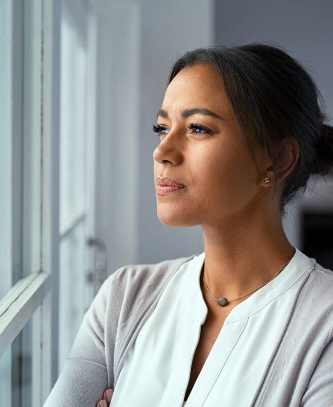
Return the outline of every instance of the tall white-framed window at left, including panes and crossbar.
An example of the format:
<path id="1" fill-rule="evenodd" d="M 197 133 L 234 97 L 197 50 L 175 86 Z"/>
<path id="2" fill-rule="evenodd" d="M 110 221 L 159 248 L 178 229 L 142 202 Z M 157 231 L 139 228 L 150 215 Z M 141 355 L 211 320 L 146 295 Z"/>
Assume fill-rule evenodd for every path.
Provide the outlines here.
<path id="1" fill-rule="evenodd" d="M 94 295 L 94 26 L 81 0 L 0 2 L 0 400 L 13 407 L 43 404 Z"/>

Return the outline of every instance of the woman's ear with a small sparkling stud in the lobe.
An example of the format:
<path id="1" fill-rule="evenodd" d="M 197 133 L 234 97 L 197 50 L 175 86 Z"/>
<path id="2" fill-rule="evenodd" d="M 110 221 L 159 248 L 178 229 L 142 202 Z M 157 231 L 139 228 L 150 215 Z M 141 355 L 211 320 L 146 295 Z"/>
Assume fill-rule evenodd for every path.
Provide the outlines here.
<path id="1" fill-rule="evenodd" d="M 299 157 L 299 146 L 294 138 L 287 137 L 277 146 L 274 164 L 267 167 L 261 185 L 281 183 L 293 170 Z"/>

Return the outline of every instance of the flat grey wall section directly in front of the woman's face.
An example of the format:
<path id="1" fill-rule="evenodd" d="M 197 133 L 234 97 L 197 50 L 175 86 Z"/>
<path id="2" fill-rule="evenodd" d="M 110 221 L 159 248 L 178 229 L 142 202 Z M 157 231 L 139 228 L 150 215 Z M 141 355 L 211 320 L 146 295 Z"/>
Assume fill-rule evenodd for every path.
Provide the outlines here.
<path id="1" fill-rule="evenodd" d="M 202 0 L 146 0 L 141 37 L 141 91 L 139 134 L 138 261 L 146 263 L 203 251 L 199 228 L 170 228 L 159 223 L 153 179 L 152 133 L 168 74 L 177 56 L 212 45 L 212 2 Z"/>

